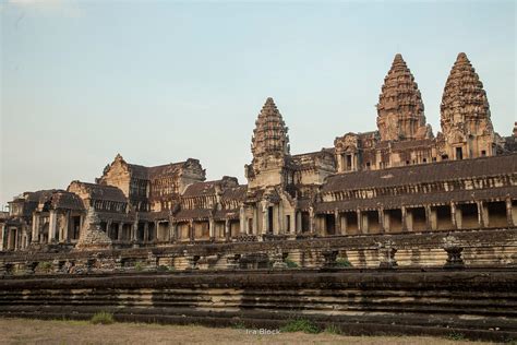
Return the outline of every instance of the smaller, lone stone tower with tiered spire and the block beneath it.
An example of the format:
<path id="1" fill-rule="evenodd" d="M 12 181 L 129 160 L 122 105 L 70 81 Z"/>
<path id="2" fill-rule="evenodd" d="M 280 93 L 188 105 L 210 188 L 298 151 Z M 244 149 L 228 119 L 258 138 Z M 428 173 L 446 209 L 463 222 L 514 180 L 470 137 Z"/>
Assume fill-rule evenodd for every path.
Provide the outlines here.
<path id="1" fill-rule="evenodd" d="M 245 166 L 245 176 L 251 189 L 286 183 L 286 158 L 289 157 L 287 131 L 275 102 L 270 97 L 267 98 L 253 130 L 253 162 Z"/>

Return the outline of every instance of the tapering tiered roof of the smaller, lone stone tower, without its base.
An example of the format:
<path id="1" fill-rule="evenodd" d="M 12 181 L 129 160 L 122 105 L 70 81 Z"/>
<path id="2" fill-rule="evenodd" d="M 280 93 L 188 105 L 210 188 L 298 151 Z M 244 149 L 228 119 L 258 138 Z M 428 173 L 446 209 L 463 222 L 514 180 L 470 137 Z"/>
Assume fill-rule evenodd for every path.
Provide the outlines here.
<path id="1" fill-rule="evenodd" d="M 267 98 L 253 130 L 253 157 L 265 154 L 289 154 L 288 128 L 281 118 L 273 98 Z"/>

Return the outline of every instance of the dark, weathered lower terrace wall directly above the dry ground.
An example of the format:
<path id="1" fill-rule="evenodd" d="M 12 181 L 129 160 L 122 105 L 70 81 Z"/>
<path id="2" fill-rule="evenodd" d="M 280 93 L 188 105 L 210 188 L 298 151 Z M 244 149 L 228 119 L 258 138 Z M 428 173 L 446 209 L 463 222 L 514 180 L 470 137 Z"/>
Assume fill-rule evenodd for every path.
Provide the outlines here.
<path id="1" fill-rule="evenodd" d="M 276 329 L 310 319 L 349 334 L 517 338 L 517 271 L 253 270 L 12 276 L 0 316 Z"/>

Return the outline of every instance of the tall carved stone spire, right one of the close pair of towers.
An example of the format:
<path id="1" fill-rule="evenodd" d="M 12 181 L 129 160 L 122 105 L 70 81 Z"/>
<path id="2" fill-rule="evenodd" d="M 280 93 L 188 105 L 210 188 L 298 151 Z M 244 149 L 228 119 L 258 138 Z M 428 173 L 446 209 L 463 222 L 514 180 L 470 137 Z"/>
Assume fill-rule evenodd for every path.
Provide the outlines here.
<path id="1" fill-rule="evenodd" d="M 495 134 L 486 93 L 465 52 L 458 55 L 445 83 L 441 115 L 449 157 L 494 154 Z"/>

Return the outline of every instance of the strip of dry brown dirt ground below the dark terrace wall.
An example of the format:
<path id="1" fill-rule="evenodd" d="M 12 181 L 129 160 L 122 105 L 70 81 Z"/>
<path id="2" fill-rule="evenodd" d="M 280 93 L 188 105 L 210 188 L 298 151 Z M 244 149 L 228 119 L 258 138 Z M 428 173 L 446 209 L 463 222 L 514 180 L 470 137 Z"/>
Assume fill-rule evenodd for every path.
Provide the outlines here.
<path id="1" fill-rule="evenodd" d="M 197 325 L 0 319 L 1 344 L 467 344 L 424 336 L 344 336 L 329 333 L 253 334 L 258 330 Z M 474 343 L 483 344 L 483 343 Z"/>

